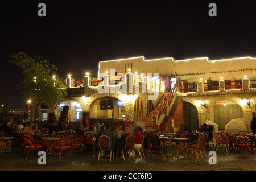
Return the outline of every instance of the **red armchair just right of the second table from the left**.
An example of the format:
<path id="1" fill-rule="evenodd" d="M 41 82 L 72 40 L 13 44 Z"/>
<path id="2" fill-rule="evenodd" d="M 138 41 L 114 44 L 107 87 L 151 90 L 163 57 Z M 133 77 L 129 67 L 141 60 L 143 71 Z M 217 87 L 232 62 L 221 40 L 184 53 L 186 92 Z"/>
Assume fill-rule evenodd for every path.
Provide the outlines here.
<path id="1" fill-rule="evenodd" d="M 57 151 L 59 155 L 59 159 L 61 159 L 61 155 L 72 155 L 72 143 L 73 143 L 73 137 L 72 136 L 66 136 L 61 138 L 58 141 L 55 141 L 53 144 L 53 152 L 52 155 L 55 154 Z M 63 152 L 68 151 L 68 154 L 64 154 Z"/>

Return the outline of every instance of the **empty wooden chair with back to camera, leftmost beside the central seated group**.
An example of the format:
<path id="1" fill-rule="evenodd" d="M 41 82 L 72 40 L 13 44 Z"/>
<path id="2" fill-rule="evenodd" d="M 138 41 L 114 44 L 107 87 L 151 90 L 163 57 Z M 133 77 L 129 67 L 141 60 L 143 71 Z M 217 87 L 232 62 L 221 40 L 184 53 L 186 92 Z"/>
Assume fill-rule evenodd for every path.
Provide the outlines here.
<path id="1" fill-rule="evenodd" d="M 113 152 L 113 158 L 114 158 L 114 148 L 110 147 L 110 137 L 106 135 L 101 135 L 98 138 L 98 146 L 99 146 L 99 151 L 98 151 L 98 161 L 100 160 L 100 154 L 101 154 L 101 159 L 103 157 L 103 151 L 110 151 L 110 162 L 112 158 L 112 152 Z"/>

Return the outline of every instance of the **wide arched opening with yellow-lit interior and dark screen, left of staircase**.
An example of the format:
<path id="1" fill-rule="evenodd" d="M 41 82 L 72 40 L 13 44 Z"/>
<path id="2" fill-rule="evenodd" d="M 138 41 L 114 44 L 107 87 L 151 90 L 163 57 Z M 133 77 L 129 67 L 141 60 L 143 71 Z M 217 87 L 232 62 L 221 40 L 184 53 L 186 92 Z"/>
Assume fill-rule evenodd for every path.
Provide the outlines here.
<path id="1" fill-rule="evenodd" d="M 90 119 L 118 118 L 125 118 L 125 106 L 118 98 L 99 98 L 90 106 Z"/>

